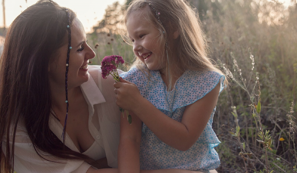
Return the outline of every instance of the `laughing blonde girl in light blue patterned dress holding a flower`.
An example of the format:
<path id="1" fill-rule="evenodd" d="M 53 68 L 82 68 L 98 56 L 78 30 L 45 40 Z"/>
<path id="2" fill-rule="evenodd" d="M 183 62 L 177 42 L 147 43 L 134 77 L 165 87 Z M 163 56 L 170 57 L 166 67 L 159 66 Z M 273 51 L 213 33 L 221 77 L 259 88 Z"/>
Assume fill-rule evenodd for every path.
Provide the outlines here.
<path id="1" fill-rule="evenodd" d="M 227 81 L 207 57 L 195 12 L 184 0 L 135 0 L 125 24 L 137 59 L 114 84 L 116 104 L 132 115 L 131 125 L 121 117 L 119 170 L 216 169 L 211 125 Z"/>

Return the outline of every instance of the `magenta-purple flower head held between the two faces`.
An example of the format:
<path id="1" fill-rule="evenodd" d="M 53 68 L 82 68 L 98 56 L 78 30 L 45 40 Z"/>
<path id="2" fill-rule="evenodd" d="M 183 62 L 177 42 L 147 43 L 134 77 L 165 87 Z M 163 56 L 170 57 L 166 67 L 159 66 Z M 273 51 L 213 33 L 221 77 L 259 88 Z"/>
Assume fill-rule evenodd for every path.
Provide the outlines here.
<path id="1" fill-rule="evenodd" d="M 105 56 L 101 61 L 102 77 L 106 79 L 106 76 L 112 74 L 115 80 L 119 79 L 116 71 L 119 63 L 124 64 L 123 57 L 119 55 Z"/>

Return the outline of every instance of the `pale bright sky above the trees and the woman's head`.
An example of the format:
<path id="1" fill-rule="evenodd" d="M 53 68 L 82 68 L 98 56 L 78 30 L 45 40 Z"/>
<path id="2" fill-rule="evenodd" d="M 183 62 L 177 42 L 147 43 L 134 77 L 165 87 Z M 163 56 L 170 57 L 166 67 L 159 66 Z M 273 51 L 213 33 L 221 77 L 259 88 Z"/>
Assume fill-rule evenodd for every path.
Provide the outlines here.
<path id="1" fill-rule="evenodd" d="M 5 27 L 8 28 L 12 21 L 27 7 L 38 0 L 5 0 Z M 93 26 L 100 21 L 105 14 L 108 5 L 119 1 L 124 4 L 126 0 L 54 0 L 62 7 L 67 7 L 76 12 L 78 19 L 83 23 L 86 33 L 91 32 Z M 0 1 L 0 27 L 3 27 L 3 5 Z"/>

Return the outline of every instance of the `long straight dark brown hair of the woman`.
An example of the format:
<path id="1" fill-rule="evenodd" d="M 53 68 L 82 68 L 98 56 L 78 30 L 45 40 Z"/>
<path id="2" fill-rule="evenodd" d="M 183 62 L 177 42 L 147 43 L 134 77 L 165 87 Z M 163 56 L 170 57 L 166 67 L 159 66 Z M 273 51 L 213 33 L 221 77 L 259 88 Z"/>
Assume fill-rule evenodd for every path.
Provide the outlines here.
<path id="1" fill-rule="evenodd" d="M 76 15 L 70 9 L 68 12 L 72 22 Z M 43 151 L 59 158 L 93 161 L 70 150 L 49 128 L 52 100 L 48 64 L 68 43 L 68 20 L 66 8 L 52 0 L 40 0 L 15 18 L 7 31 L 0 59 L 0 169 L 4 172 L 13 172 L 15 134 L 20 122 L 40 157 L 39 151 Z"/>

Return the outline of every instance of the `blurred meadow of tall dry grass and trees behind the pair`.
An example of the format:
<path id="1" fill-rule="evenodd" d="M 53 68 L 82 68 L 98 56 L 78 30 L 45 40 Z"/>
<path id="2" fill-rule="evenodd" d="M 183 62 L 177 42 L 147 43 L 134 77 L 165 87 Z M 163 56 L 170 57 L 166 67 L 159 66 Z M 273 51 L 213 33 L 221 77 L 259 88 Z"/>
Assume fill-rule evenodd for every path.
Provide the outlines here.
<path id="1" fill-rule="evenodd" d="M 8 0 L 2 1 L 8 4 Z M 13 9 L 2 6 L 0 22 L 4 22 L 5 11 L 6 28 L 31 5 L 29 0 L 16 1 L 20 4 Z M 100 64 L 106 55 L 121 55 L 126 64 L 133 62 L 132 47 L 119 35 L 120 21 L 130 1 L 106 4 L 101 0 L 73 0 L 69 4 L 56 0 L 76 11 L 85 26 L 88 44 L 96 53 L 92 64 Z M 216 147 L 221 159 L 217 171 L 297 172 L 296 0 L 188 1 L 198 11 L 208 38 L 209 57 L 230 82 L 219 96 L 213 123 L 222 142 Z M 16 15 L 10 13 L 17 9 Z M 10 14 L 15 15 L 11 21 Z M 5 27 L 0 26 L 1 52 Z M 121 69 L 127 70 L 125 66 Z"/>

